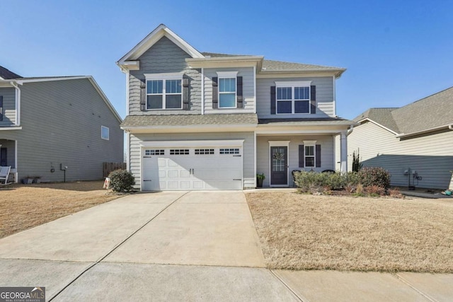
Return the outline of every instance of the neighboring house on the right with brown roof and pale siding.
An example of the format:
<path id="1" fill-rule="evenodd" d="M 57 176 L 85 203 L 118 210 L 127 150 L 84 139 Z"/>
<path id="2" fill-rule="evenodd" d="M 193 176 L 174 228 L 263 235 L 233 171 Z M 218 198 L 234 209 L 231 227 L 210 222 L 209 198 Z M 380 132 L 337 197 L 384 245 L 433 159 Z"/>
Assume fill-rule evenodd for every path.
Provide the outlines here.
<path id="1" fill-rule="evenodd" d="M 407 187 L 409 178 L 416 187 L 453 187 L 453 88 L 401 108 L 371 108 L 355 121 L 349 156 L 360 149 L 364 166 L 389 170 L 391 185 Z"/>

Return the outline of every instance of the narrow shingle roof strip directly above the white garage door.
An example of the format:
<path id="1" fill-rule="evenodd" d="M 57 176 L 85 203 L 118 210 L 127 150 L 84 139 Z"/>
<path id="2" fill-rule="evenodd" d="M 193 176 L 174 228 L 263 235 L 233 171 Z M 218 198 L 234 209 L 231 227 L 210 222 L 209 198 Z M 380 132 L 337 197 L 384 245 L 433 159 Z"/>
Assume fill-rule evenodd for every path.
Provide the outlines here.
<path id="1" fill-rule="evenodd" d="M 255 113 L 214 115 L 128 115 L 122 127 L 258 124 Z"/>

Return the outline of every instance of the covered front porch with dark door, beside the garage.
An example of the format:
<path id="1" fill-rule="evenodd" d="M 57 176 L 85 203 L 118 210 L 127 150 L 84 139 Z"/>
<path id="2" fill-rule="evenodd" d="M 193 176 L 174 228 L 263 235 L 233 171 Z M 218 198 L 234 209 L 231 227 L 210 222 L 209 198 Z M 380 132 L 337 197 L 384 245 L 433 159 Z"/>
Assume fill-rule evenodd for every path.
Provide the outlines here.
<path id="1" fill-rule="evenodd" d="M 292 171 L 336 170 L 338 162 L 340 171 L 346 172 L 346 132 L 352 123 L 338 119 L 260 120 L 256 131 L 256 173 L 265 175 L 263 187 L 293 187 Z"/>

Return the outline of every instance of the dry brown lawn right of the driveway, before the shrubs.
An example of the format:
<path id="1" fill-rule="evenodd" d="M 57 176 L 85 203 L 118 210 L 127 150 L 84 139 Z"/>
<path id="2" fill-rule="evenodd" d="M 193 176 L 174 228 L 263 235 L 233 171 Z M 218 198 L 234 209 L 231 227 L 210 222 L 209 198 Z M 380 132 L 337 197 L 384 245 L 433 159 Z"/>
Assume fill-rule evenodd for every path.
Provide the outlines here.
<path id="1" fill-rule="evenodd" d="M 453 272 L 453 202 L 246 194 L 268 267 Z"/>

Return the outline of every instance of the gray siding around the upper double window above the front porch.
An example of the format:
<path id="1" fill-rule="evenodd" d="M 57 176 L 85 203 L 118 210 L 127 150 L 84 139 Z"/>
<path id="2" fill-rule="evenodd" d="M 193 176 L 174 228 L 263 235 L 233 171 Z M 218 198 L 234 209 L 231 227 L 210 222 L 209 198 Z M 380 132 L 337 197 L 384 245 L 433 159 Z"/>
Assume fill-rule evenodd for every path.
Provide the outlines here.
<path id="1" fill-rule="evenodd" d="M 271 115 L 270 86 L 275 81 L 311 81 L 316 86 L 316 114 Z M 288 118 L 288 117 L 333 117 L 335 104 L 333 102 L 333 80 L 331 76 L 285 78 L 285 79 L 256 79 L 257 113 L 259 118 Z"/>

